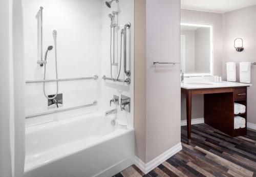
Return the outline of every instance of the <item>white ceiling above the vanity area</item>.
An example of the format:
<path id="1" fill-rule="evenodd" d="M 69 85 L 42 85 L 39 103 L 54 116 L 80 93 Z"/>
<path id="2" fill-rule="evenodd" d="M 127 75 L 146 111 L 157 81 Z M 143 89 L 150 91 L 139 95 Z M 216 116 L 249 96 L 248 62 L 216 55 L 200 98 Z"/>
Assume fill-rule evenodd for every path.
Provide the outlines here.
<path id="1" fill-rule="evenodd" d="M 226 13 L 256 5 L 256 0 L 181 0 L 182 9 Z"/>

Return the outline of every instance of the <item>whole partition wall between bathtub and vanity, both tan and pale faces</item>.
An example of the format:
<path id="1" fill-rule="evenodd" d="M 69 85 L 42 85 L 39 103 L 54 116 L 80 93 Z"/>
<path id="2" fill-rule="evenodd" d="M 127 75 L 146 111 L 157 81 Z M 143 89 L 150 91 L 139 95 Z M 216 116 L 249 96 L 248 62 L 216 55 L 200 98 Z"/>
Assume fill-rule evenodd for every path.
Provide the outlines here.
<path id="1" fill-rule="evenodd" d="M 180 0 L 135 0 L 135 155 L 144 163 L 181 141 L 180 65 L 153 66 L 180 62 L 177 41 Z"/>

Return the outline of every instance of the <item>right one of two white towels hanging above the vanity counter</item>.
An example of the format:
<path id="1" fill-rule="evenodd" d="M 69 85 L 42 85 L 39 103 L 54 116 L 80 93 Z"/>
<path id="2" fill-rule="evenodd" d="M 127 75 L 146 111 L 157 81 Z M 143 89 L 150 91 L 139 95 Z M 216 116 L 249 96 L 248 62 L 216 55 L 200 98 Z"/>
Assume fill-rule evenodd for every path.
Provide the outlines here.
<path id="1" fill-rule="evenodd" d="M 250 83 L 251 82 L 251 63 L 240 62 L 240 82 Z"/>

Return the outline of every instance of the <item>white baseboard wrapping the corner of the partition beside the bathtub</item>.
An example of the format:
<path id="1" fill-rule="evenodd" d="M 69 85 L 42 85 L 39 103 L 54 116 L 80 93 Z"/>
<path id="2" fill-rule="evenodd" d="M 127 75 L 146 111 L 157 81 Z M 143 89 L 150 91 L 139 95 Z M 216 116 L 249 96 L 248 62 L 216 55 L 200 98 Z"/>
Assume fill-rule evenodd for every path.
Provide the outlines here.
<path id="1" fill-rule="evenodd" d="M 145 174 L 156 168 L 158 165 L 169 159 L 170 157 L 174 156 L 177 152 L 182 150 L 181 143 L 178 143 L 174 147 L 168 149 L 167 151 L 163 152 L 160 156 L 153 159 L 152 161 L 148 163 L 144 163 L 142 160 L 140 160 L 138 157 L 135 156 L 134 158 L 134 164 Z"/>

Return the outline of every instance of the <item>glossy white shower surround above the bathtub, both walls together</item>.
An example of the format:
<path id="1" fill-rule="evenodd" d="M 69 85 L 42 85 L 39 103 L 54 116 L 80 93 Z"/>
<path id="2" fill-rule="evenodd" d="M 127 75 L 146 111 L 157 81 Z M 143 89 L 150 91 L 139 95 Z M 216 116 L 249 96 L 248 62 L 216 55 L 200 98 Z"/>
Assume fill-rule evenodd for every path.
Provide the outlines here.
<path id="1" fill-rule="evenodd" d="M 39 59 L 38 12 L 43 10 L 43 52 L 48 46 L 54 46 L 53 30 L 57 30 L 57 62 L 58 78 L 91 77 L 98 75 L 98 80 L 79 80 L 59 82 L 59 93 L 63 94 L 63 107 L 69 108 L 98 101 L 97 106 L 72 110 L 65 113 L 47 115 L 26 120 L 26 125 L 42 123 L 76 114 L 94 112 L 115 108 L 109 106 L 113 94 L 126 95 L 133 101 L 133 24 L 134 1 L 120 1 L 119 7 L 113 2 L 109 9 L 102 0 L 23 0 L 24 27 L 25 27 L 25 77 L 26 80 L 43 79 L 44 67 L 36 61 Z M 130 58 L 128 67 L 132 71 L 131 85 L 103 81 L 103 75 L 110 76 L 109 48 L 110 48 L 110 18 L 108 14 L 118 9 L 119 31 L 123 25 L 130 22 L 127 58 Z M 117 39 L 120 43 L 120 37 Z M 119 49 L 120 50 L 120 49 Z M 54 50 L 49 51 L 47 59 L 46 78 L 55 78 Z M 123 60 L 122 60 L 123 65 Z M 113 67 L 113 71 L 115 71 Z M 120 79 L 123 79 L 121 67 Z M 55 94 L 56 83 L 46 83 L 46 93 Z M 42 83 L 26 84 L 26 115 L 48 111 L 48 102 L 43 94 Z M 102 97 L 101 97 L 102 96 Z M 123 124 L 133 127 L 133 104 L 131 113 L 120 112 L 118 118 Z M 55 110 L 55 109 L 49 109 Z M 127 121 L 129 121 L 127 123 Z"/>

